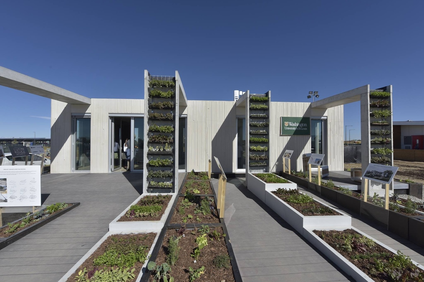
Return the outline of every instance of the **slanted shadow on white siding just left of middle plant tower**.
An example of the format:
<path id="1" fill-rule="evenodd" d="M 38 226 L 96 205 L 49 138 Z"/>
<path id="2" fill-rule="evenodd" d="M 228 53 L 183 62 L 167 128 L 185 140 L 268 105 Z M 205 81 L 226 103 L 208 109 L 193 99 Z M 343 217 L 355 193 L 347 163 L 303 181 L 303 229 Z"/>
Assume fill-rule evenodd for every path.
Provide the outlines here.
<path id="1" fill-rule="evenodd" d="M 224 172 L 233 171 L 233 140 L 236 137 L 236 106 L 232 107 L 224 122 L 212 139 L 212 172 L 220 172 L 214 156 L 218 158 Z"/>

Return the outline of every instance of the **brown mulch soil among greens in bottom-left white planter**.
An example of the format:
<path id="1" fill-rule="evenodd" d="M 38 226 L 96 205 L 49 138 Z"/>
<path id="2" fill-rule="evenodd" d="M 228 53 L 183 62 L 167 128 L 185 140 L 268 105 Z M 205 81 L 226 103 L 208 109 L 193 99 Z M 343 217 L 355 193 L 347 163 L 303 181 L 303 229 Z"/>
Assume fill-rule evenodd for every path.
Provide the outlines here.
<path id="1" fill-rule="evenodd" d="M 84 267 L 87 269 L 87 271 L 91 271 L 95 268 L 98 269 L 103 269 L 103 266 L 95 266 L 93 265 L 95 258 L 100 257 L 101 255 L 103 255 L 103 253 L 105 252 L 106 246 L 112 243 L 112 237 L 117 238 L 118 240 L 120 239 L 128 239 L 128 238 L 132 238 L 133 237 L 137 237 L 138 240 L 137 241 L 133 241 L 131 240 L 132 243 L 135 244 L 139 244 L 139 245 L 143 245 L 143 246 L 148 246 L 149 249 L 151 248 L 153 241 L 156 237 L 156 233 L 143 233 L 143 234 L 126 234 L 126 235 L 111 235 L 109 236 L 106 241 L 104 241 L 97 250 L 95 250 L 94 253 L 92 253 L 92 255 L 90 255 L 89 258 L 87 258 L 84 263 L 81 264 L 81 266 L 74 272 L 74 274 L 72 274 L 66 281 L 67 282 L 74 282 L 74 278 L 78 275 L 78 272 L 82 269 L 84 269 Z M 134 271 L 135 274 L 135 278 L 132 280 L 127 280 L 127 282 L 132 282 L 135 281 L 137 279 L 137 276 L 139 274 L 139 272 L 141 271 L 141 268 L 144 264 L 143 262 L 137 262 L 134 264 L 133 267 L 130 268 L 130 271 L 132 268 L 135 268 L 136 270 Z M 114 266 L 115 268 L 117 266 Z M 110 269 L 111 267 L 107 267 L 107 269 Z"/>

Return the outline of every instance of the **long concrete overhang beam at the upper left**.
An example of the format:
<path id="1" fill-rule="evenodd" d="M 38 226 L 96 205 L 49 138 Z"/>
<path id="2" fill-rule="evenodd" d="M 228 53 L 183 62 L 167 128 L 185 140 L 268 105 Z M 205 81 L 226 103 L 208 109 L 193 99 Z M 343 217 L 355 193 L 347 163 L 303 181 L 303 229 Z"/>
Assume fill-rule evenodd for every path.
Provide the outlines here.
<path id="1" fill-rule="evenodd" d="M 69 104 L 91 104 L 90 98 L 2 66 L 0 66 L 0 85 Z"/>

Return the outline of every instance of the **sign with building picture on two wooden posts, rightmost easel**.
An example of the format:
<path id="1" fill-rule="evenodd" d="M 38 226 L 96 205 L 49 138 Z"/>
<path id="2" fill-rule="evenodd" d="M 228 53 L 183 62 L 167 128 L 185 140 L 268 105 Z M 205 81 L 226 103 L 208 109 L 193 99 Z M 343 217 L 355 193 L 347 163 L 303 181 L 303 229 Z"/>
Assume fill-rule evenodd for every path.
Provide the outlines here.
<path id="1" fill-rule="evenodd" d="M 399 167 L 392 167 L 384 164 L 368 164 L 365 172 L 362 175 L 364 179 L 364 202 L 368 198 L 368 180 L 377 181 L 385 184 L 385 209 L 389 209 L 389 189 L 390 183 L 393 181 Z"/>

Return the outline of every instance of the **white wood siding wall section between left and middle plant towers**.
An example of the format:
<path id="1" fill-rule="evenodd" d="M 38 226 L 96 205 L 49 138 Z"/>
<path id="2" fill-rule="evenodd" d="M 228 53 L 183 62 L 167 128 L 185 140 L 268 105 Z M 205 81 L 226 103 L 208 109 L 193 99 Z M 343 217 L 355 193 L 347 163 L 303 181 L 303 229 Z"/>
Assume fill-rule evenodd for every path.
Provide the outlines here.
<path id="1" fill-rule="evenodd" d="M 234 101 L 188 101 L 187 171 L 206 171 L 208 159 L 212 172 L 219 172 L 216 156 L 224 171 L 234 171 L 236 159 L 236 107 Z"/>

